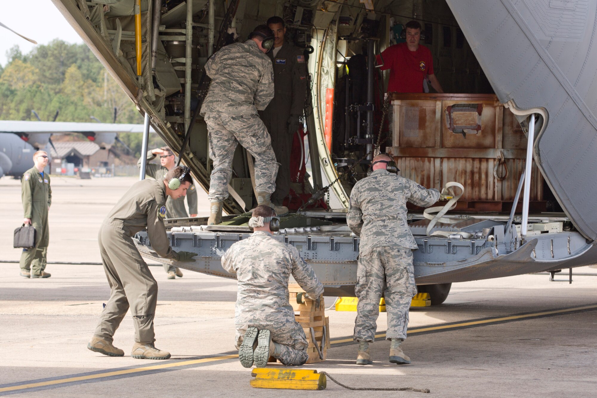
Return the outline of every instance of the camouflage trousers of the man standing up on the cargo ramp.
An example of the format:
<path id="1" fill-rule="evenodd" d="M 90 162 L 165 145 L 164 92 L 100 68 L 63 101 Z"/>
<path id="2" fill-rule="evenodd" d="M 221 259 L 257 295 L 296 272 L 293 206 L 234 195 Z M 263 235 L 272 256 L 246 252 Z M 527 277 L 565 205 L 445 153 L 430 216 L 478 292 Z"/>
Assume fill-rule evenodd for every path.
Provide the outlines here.
<path id="1" fill-rule="evenodd" d="M 240 143 L 255 158 L 255 189 L 272 193 L 276 189 L 279 163 L 272 149 L 272 139 L 258 115 L 227 115 L 219 112 L 205 114 L 209 132 L 210 157 L 214 161 L 211 172 L 210 202 L 228 197 L 228 183 L 232 176 L 232 160 Z"/>

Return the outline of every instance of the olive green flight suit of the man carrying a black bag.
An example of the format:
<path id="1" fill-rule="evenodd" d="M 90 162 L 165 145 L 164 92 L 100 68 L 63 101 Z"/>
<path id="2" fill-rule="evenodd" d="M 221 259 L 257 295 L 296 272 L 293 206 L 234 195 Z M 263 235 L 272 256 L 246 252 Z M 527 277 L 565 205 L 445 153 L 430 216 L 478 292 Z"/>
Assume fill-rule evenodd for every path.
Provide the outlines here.
<path id="1" fill-rule="evenodd" d="M 23 249 L 19 262 L 21 273 L 33 271 L 41 275 L 45 270 L 50 242 L 50 229 L 48 228 L 48 209 L 52 204 L 52 188 L 50 188 L 50 175 L 40 173 L 32 167 L 23 174 L 21 179 L 21 200 L 23 201 L 23 218 L 30 218 L 35 228 L 35 247 Z"/>

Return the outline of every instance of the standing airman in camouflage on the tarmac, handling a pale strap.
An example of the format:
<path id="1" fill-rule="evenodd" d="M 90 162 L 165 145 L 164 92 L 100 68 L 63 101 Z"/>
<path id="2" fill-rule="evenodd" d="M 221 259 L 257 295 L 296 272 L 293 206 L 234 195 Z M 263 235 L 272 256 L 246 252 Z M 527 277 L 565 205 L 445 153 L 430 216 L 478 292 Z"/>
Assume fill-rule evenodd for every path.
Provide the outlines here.
<path id="1" fill-rule="evenodd" d="M 417 293 L 413 253 L 417 243 L 407 225 L 407 201 L 427 207 L 439 198 L 437 189 L 426 189 L 413 180 L 389 173 L 392 160 L 374 158 L 373 173 L 357 182 L 350 194 L 346 222 L 361 236 L 355 294 L 359 299 L 355 341 L 359 341 L 357 364 L 370 363 L 368 342 L 374 341 L 379 301 L 386 300 L 386 339 L 392 340 L 390 362 L 410 363 L 400 343 L 407 337 L 408 310 Z"/>

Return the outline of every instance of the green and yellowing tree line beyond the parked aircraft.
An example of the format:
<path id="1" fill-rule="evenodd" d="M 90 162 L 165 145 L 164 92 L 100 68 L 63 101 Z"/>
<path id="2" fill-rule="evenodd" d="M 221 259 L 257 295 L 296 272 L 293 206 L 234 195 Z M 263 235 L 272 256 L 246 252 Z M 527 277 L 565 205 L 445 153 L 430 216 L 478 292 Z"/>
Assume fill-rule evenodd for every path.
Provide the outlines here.
<path id="1" fill-rule="evenodd" d="M 52 121 L 58 111 L 57 121 L 143 123 L 133 102 L 85 44 L 55 39 L 28 54 L 15 45 L 7 59 L 4 68 L 0 65 L 0 120 L 38 120 L 35 111 L 42 121 Z M 140 155 L 140 133 L 120 138 Z"/>

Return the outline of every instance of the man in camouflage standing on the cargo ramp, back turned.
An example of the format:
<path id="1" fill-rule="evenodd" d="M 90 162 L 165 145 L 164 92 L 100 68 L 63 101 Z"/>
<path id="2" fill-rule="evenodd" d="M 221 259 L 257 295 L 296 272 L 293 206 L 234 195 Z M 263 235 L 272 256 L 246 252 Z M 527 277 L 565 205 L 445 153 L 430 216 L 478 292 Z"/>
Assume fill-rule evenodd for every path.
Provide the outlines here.
<path id="1" fill-rule="evenodd" d="M 263 29 L 264 28 L 264 29 Z M 259 29 L 264 33 L 258 32 Z M 256 33 L 257 32 L 257 33 Z M 205 119 L 210 140 L 211 214 L 208 225 L 220 224 L 223 200 L 228 197 L 232 176 L 232 160 L 238 143 L 255 158 L 255 188 L 259 204 L 271 205 L 279 164 L 273 153 L 272 140 L 257 111 L 262 111 L 273 98 L 272 62 L 261 47 L 269 27 L 256 27 L 253 38 L 221 48 L 205 64 L 211 78 L 201 115 Z M 263 35 L 261 37 L 260 35 Z M 288 209 L 280 210 L 284 215 Z"/>

